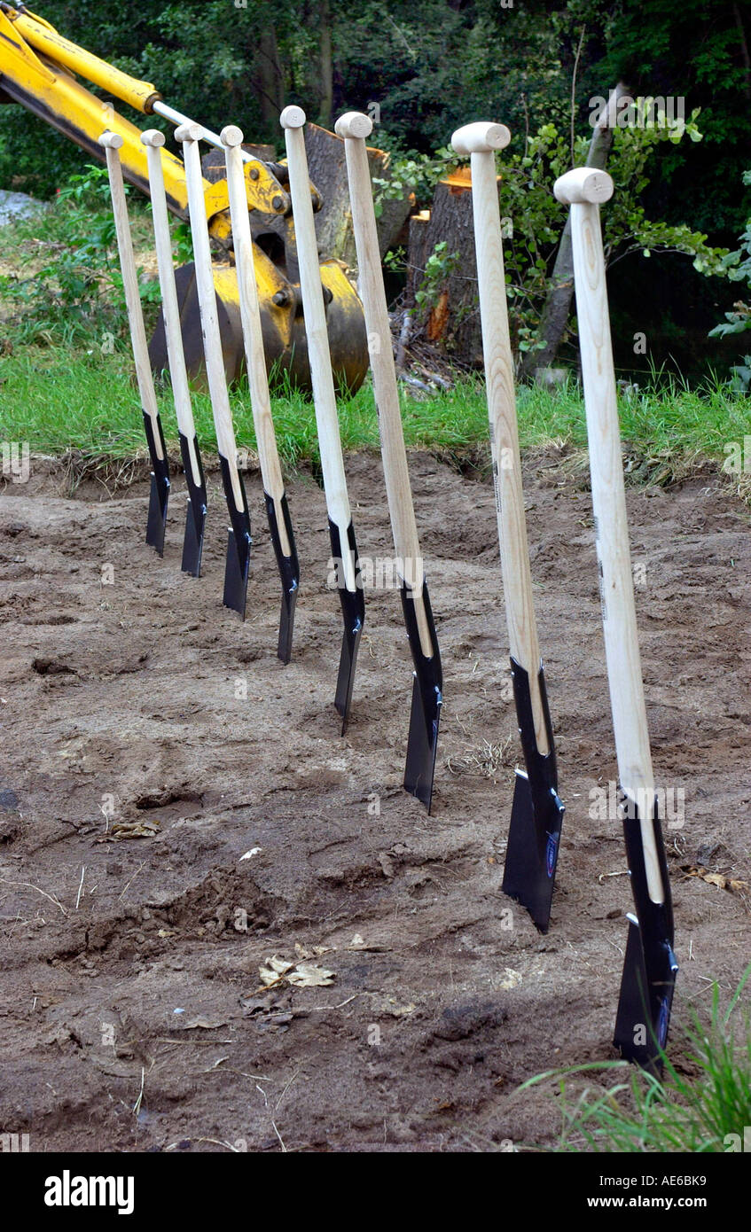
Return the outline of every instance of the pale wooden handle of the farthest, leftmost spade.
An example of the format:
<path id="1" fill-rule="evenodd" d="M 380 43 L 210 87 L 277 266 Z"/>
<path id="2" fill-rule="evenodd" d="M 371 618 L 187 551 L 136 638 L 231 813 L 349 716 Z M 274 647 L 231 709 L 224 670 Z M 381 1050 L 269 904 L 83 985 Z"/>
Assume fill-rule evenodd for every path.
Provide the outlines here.
<path id="1" fill-rule="evenodd" d="M 159 431 L 159 407 L 154 392 L 154 378 L 149 362 L 149 349 L 146 341 L 146 326 L 143 324 L 143 310 L 141 308 L 141 294 L 138 292 L 138 275 L 136 272 L 136 257 L 133 256 L 133 240 L 131 238 L 131 223 L 128 219 L 128 206 L 125 195 L 122 179 L 122 166 L 120 154 L 122 137 L 118 133 L 105 132 L 99 138 L 99 144 L 104 145 L 107 159 L 107 172 L 110 176 L 110 193 L 112 196 L 112 213 L 115 216 L 115 230 L 117 234 L 117 250 L 120 253 L 120 269 L 122 270 L 122 286 L 128 312 L 128 325 L 131 328 L 131 344 L 133 347 L 133 360 L 136 361 L 136 379 L 141 405 L 154 425 L 153 439 L 157 457 L 162 461 L 162 432 Z"/>

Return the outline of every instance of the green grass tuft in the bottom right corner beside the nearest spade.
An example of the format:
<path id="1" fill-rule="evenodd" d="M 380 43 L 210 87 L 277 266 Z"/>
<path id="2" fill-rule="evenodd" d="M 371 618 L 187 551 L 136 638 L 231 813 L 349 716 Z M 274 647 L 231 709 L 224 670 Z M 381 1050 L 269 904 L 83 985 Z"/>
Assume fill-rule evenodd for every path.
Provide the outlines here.
<path id="1" fill-rule="evenodd" d="M 707 1153 L 737 1149 L 737 1138 L 742 1149 L 744 1127 L 751 1126 L 751 1021 L 740 998 L 750 976 L 751 965 L 726 1007 L 713 984 L 709 1021 L 692 1010 L 683 1032 L 673 1030 L 661 1079 L 617 1061 L 549 1071 L 524 1083 L 522 1093 L 541 1083 L 557 1087 L 555 1149 Z M 599 1084 L 582 1087 L 587 1074 Z M 617 1080 L 603 1089 L 608 1076 Z"/>

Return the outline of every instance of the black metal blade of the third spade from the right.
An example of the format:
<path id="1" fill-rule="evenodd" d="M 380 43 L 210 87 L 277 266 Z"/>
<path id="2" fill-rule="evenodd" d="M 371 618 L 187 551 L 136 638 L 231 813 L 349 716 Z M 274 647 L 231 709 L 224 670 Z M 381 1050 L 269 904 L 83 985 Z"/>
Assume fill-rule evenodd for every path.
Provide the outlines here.
<path id="1" fill-rule="evenodd" d="M 433 654 L 423 654 L 414 600 L 406 583 L 402 582 L 402 610 L 404 625 L 414 663 L 412 684 L 412 710 L 409 712 L 409 734 L 407 737 L 407 763 L 404 766 L 404 790 L 430 812 L 433 802 L 433 779 L 435 776 L 435 753 L 438 749 L 438 728 L 440 707 L 443 705 L 443 670 L 438 650 L 438 637 L 428 598 L 428 586 L 423 582 L 423 604 Z"/>

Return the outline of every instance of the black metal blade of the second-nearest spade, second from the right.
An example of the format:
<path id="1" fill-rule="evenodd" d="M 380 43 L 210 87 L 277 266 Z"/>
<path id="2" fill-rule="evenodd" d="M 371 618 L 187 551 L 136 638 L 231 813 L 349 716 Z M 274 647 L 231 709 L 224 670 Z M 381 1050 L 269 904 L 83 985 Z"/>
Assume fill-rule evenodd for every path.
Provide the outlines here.
<path id="1" fill-rule="evenodd" d="M 511 670 L 525 771 L 517 770 L 502 890 L 509 898 L 518 899 L 540 931 L 546 933 L 565 809 L 557 793 L 545 674 L 540 668 L 538 681 L 550 752 L 541 754 L 535 736 L 529 674 L 514 658 Z"/>

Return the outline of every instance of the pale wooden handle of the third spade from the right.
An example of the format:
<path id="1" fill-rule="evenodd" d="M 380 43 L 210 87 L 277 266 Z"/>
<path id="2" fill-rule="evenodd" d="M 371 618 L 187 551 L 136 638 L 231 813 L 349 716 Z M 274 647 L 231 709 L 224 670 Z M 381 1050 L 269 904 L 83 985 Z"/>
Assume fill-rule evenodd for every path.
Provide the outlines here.
<path id="1" fill-rule="evenodd" d="M 358 287 L 365 309 L 370 344 L 370 366 L 379 411 L 381 456 L 393 546 L 397 559 L 403 567 L 402 580 L 407 583 L 416 602 L 421 649 L 430 659 L 434 654 L 434 647 L 422 598 L 423 561 L 414 520 L 402 411 L 391 346 L 391 325 L 365 148 L 365 138 L 370 136 L 371 131 L 372 121 L 359 111 L 350 111 L 340 116 L 335 123 L 337 134 L 344 138 L 351 221 L 358 250 Z"/>

